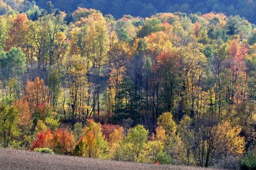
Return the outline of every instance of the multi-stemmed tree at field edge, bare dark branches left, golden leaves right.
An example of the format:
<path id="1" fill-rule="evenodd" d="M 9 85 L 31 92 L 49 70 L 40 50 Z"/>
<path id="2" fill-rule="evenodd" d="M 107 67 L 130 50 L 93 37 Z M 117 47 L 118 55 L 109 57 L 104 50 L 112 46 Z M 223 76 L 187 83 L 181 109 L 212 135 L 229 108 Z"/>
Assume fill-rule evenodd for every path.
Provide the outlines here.
<path id="1" fill-rule="evenodd" d="M 241 127 L 232 127 L 229 121 L 218 125 L 206 119 L 204 122 L 196 122 L 193 131 L 193 155 L 196 164 L 208 167 L 214 159 L 242 154 L 244 138 L 239 136 L 240 132 Z"/>

